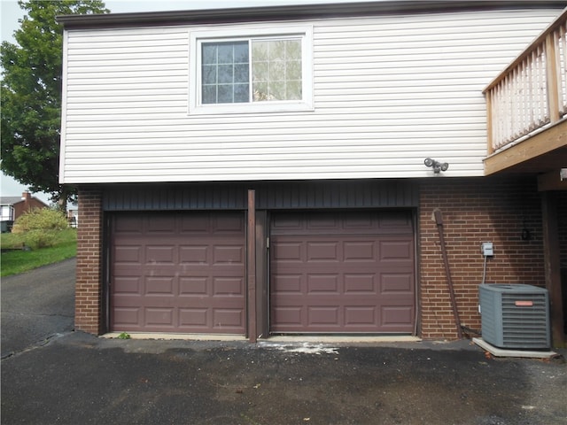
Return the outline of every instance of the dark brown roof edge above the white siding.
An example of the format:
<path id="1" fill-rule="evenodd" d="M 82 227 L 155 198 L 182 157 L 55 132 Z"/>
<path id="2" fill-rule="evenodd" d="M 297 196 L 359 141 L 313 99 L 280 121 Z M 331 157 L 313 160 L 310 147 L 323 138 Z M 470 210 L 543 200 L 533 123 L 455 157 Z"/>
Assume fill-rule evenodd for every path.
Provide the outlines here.
<path id="1" fill-rule="evenodd" d="M 58 16 L 57 19 L 66 28 L 145 27 L 176 24 L 252 22 L 257 20 L 332 18 L 403 12 L 451 12 L 504 8 L 541 9 L 546 7 L 563 8 L 565 6 L 567 6 L 567 1 L 565 0 L 386 0 L 348 4 L 303 4 L 171 12 L 63 15 Z"/>

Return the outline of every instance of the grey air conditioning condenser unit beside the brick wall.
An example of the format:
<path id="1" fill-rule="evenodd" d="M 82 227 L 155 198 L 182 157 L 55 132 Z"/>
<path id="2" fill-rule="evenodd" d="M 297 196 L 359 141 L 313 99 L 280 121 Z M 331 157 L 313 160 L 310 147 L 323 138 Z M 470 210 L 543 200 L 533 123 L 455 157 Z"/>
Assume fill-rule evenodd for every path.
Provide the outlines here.
<path id="1" fill-rule="evenodd" d="M 551 346 L 548 290 L 523 284 L 479 285 L 482 339 L 495 347 L 544 350 Z"/>

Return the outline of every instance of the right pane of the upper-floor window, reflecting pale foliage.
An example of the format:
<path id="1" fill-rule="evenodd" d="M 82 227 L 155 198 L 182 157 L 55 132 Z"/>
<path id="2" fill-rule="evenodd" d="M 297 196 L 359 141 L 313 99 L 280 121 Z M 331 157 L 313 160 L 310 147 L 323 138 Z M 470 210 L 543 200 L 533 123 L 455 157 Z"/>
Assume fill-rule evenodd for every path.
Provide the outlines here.
<path id="1" fill-rule="evenodd" d="M 300 100 L 301 40 L 252 42 L 252 101 Z"/>

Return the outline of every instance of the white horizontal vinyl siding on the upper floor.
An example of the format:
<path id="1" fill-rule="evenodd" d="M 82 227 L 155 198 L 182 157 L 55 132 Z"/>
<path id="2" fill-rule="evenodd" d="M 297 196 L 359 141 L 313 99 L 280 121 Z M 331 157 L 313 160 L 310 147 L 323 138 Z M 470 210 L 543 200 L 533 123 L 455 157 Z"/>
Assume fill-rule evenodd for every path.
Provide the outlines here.
<path id="1" fill-rule="evenodd" d="M 313 27 L 314 109 L 302 112 L 190 113 L 201 27 L 69 30 L 61 182 L 427 177 L 428 157 L 449 163 L 441 175 L 480 176 L 482 89 L 559 12 L 300 22 Z"/>

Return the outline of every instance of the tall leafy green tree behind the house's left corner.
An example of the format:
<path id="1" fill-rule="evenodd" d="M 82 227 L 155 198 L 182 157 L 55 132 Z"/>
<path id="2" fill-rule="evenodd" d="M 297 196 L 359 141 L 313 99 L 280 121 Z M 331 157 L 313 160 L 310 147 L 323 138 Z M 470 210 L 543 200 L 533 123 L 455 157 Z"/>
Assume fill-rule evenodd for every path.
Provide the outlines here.
<path id="1" fill-rule="evenodd" d="M 27 12 L 14 31 L 16 44 L 3 42 L 1 168 L 32 191 L 62 205 L 74 189 L 58 183 L 61 129 L 63 27 L 58 15 L 107 13 L 100 0 L 19 0 Z"/>

